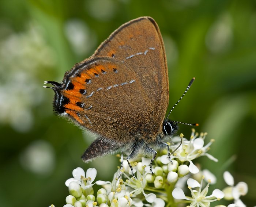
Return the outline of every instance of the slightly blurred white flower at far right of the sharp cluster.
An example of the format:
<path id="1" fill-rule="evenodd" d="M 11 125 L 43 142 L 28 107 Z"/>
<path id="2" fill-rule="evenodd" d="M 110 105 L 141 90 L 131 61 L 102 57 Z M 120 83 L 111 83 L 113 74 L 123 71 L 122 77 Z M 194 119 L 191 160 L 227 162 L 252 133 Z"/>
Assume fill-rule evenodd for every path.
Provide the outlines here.
<path id="1" fill-rule="evenodd" d="M 240 196 L 246 195 L 248 192 L 248 185 L 245 182 L 239 182 L 236 186 L 234 186 L 234 178 L 227 171 L 224 172 L 223 177 L 227 185 L 229 185 L 229 187 L 223 189 L 223 192 L 225 192 L 225 199 L 234 199 L 237 207 L 245 207 L 245 204 L 241 201 Z"/>

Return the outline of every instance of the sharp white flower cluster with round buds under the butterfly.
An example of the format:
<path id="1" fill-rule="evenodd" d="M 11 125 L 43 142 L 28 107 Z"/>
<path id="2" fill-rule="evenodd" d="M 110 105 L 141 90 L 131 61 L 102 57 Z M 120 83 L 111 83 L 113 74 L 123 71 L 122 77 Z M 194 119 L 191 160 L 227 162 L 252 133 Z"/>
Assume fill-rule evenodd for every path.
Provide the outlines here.
<path id="1" fill-rule="evenodd" d="M 224 180 L 229 186 L 222 191 L 214 189 L 208 192 L 209 186 L 216 183 L 216 177 L 193 163 L 200 156 L 217 161 L 207 153 L 213 140 L 204 145 L 205 136 L 193 130 L 188 140 L 181 134 L 180 147 L 174 138 L 170 149 L 178 149 L 173 154 L 172 163 L 166 155 L 159 155 L 153 165 L 153 174 L 150 173 L 150 159 L 144 157 L 132 162 L 135 177 L 124 161 L 123 168 L 118 168 L 112 182 L 98 180 L 94 183 L 97 175 L 94 168 L 89 168 L 86 173 L 82 168 L 74 169 L 73 178 L 65 182 L 70 195 L 66 197 L 64 207 L 225 207 L 219 202 L 221 199 L 229 200 L 228 207 L 245 207 L 240 196 L 247 193 L 248 186 L 244 182 L 234 185 L 234 179 L 227 171 Z M 95 195 L 94 184 L 102 186 Z"/>

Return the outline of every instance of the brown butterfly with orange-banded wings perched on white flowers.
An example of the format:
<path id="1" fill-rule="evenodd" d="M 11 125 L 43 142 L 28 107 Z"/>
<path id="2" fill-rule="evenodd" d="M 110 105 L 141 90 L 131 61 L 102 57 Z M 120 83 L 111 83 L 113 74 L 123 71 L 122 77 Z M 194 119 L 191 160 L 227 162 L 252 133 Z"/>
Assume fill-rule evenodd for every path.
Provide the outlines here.
<path id="1" fill-rule="evenodd" d="M 167 148 L 170 158 L 164 141 L 181 122 L 168 117 L 185 93 L 165 118 L 168 70 L 162 35 L 153 18 L 123 24 L 90 58 L 67 71 L 61 83 L 45 83 L 53 85 L 47 88 L 55 92 L 54 111 L 97 135 L 82 155 L 84 162 L 125 153 L 134 176 L 129 160 L 138 154 L 151 158 L 151 173 L 157 150 Z"/>

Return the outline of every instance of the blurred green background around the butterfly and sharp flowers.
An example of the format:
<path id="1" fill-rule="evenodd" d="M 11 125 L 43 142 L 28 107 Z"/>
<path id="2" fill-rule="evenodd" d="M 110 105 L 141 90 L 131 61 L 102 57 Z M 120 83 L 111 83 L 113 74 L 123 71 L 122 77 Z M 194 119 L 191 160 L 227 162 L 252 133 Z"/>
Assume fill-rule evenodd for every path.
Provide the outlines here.
<path id="1" fill-rule="evenodd" d="M 192 77 L 191 90 L 172 119 L 200 124 L 214 138 L 198 160 L 218 177 L 229 170 L 245 181 L 242 200 L 256 204 L 256 1 L 255 0 L 1 0 L 0 1 L 0 206 L 63 206 L 72 170 L 94 167 L 111 180 L 115 156 L 84 164 L 92 138 L 52 111 L 53 91 L 66 70 L 93 54 L 121 24 L 153 17 L 162 32 L 169 68 L 170 106 Z M 191 127 L 180 126 L 189 137 Z M 223 202 L 224 203 L 224 202 Z"/>

